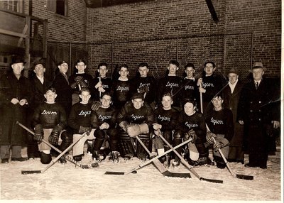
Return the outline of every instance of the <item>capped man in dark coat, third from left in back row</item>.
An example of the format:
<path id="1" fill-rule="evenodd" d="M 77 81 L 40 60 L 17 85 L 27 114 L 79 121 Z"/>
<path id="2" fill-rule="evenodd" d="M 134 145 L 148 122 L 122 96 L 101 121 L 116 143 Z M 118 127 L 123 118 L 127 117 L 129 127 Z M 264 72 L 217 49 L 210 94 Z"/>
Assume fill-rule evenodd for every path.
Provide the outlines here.
<path id="1" fill-rule="evenodd" d="M 72 107 L 72 89 L 70 87 L 67 76 L 67 62 L 65 62 L 64 60 L 60 61 L 58 63 L 58 70 L 59 73 L 53 80 L 53 87 L 55 87 L 56 93 L 58 95 L 56 102 L 63 106 L 66 112 L 66 116 L 68 117 L 70 114 L 70 109 Z"/>

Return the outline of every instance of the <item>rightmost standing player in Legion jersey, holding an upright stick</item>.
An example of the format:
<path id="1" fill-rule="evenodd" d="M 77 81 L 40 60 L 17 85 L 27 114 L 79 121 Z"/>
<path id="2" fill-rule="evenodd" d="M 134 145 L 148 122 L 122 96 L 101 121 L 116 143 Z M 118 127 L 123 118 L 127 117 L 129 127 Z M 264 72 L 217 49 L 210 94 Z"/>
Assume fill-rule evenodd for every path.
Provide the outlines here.
<path id="1" fill-rule="evenodd" d="M 204 72 L 202 72 L 202 78 L 198 79 L 197 86 L 199 86 L 199 92 L 202 93 L 202 106 L 204 115 L 207 111 L 212 109 L 211 100 L 220 91 L 222 91 L 224 79 L 219 77 L 215 73 L 216 65 L 212 61 L 207 61 L 204 63 Z M 201 108 L 201 107 L 200 107 Z"/>

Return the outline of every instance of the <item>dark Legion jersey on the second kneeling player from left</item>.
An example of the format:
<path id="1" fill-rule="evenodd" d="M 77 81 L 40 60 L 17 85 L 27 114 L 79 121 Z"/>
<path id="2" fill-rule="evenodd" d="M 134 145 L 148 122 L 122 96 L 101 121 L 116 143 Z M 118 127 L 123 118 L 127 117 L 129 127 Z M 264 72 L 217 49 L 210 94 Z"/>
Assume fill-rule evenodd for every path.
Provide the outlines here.
<path id="1" fill-rule="evenodd" d="M 74 104 L 68 118 L 68 126 L 73 129 L 73 133 L 79 133 L 80 126 L 91 127 L 92 104 Z"/>

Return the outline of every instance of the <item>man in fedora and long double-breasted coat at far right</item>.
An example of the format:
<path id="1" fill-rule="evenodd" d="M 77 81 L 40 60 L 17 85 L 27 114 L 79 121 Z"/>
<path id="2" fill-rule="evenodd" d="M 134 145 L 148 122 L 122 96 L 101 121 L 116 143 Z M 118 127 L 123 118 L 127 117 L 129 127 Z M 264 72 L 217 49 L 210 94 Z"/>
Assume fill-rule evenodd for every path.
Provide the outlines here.
<path id="1" fill-rule="evenodd" d="M 262 62 L 254 63 L 253 79 L 244 85 L 239 100 L 238 119 L 244 125 L 244 150 L 249 153 L 246 167 L 267 168 L 268 128 L 280 127 L 279 112 L 269 105 L 277 95 L 273 84 L 263 78 L 264 71 Z"/>

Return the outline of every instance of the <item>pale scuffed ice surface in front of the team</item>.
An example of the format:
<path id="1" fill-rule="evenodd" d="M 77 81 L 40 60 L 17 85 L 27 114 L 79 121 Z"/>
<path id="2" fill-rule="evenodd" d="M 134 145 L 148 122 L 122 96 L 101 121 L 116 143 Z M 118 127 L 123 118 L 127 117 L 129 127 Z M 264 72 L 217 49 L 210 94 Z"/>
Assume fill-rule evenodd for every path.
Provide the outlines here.
<path id="1" fill-rule="evenodd" d="M 253 175 L 254 180 L 241 180 L 229 171 L 216 166 L 196 167 L 195 171 L 210 179 L 224 180 L 223 184 L 191 179 L 163 177 L 153 164 L 128 175 L 104 175 L 106 171 L 127 172 L 141 164 L 133 158 L 127 162 L 104 160 L 99 168 L 75 168 L 55 163 L 40 174 L 21 175 L 21 170 L 43 170 L 39 159 L 0 164 L 1 200 L 270 200 L 280 201 L 280 148 L 269 156 L 268 168 L 244 168 L 240 163 L 229 163 L 238 174 Z M 246 155 L 245 162 L 248 162 Z M 180 165 L 171 172 L 189 172 Z M 81 202 L 80 201 L 80 202 Z"/>

